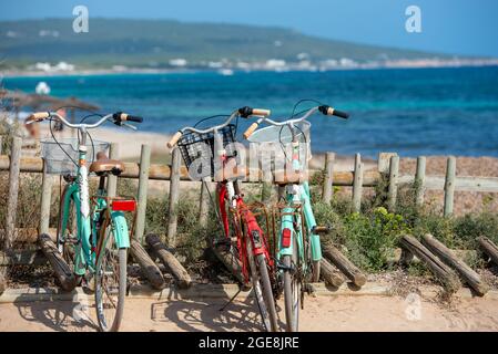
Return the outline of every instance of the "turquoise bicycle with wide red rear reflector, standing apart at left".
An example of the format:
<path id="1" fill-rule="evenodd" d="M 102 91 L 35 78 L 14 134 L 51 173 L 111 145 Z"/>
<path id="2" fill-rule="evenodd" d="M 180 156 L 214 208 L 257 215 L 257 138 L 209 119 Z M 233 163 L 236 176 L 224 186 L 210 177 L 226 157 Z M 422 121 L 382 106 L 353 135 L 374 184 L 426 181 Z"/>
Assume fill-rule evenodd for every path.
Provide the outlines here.
<path id="1" fill-rule="evenodd" d="M 124 113 L 100 116 L 94 124 L 72 124 L 52 112 L 32 114 L 26 124 L 59 121 L 78 129 L 78 138 L 42 140 L 42 157 L 48 174 L 62 175 L 65 187 L 61 196 L 57 243 L 63 258 L 73 268 L 77 282 L 93 279 L 96 317 L 101 331 L 118 331 L 121 324 L 126 292 L 126 257 L 130 230 L 125 211 L 134 211 L 134 198 L 110 198 L 105 178 L 120 175 L 124 164 L 108 159 L 108 143 L 94 142 L 89 129 L 105 122 L 128 126 L 126 122 L 141 123 L 142 118 Z M 50 126 L 51 127 L 51 126 Z M 52 129 L 51 129 L 52 132 Z M 89 142 L 90 139 L 90 142 Z M 88 156 L 91 164 L 88 167 Z M 100 177 L 95 196 L 89 196 L 89 174 Z M 75 225 L 74 225 L 75 221 Z"/>

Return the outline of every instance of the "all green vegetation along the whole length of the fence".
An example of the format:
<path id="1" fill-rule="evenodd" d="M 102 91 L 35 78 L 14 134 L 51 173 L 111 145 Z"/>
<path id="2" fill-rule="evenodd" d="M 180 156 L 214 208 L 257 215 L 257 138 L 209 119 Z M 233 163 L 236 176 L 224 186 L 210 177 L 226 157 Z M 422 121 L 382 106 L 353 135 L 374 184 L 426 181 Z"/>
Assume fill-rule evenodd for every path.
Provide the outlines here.
<path id="1" fill-rule="evenodd" d="M 498 243 L 498 216 L 490 210 L 461 217 L 444 218 L 440 211 L 430 207 L 415 205 L 414 188 L 405 187 L 399 190 L 396 210 L 386 207 L 386 183 L 382 180 L 375 194 L 363 200 L 362 212 L 353 212 L 349 198 L 345 197 L 341 188 L 335 189 L 329 205 L 319 201 L 321 178 L 312 181 L 314 210 L 318 225 L 328 226 L 329 235 L 325 242 L 338 246 L 347 257 L 358 267 L 368 272 L 390 270 L 390 261 L 398 247 L 398 240 L 404 235 L 420 238 L 430 232 L 453 249 L 477 249 L 476 238 L 486 236 Z M 96 180 L 91 181 L 94 190 Z M 248 186 L 247 186 L 248 188 Z M 40 174 L 22 174 L 17 214 L 17 226 L 20 228 L 37 228 L 40 218 Z M 261 186 L 254 189 L 261 190 Z M 52 198 L 50 225 L 57 225 L 59 210 L 59 194 Z M 120 179 L 118 191 L 120 195 L 136 195 L 136 183 Z M 8 173 L 0 174 L 0 196 L 6 199 L 8 194 Z M 165 240 L 167 229 L 167 195 L 151 192 L 146 209 L 145 233 L 153 232 Z M 247 192 L 247 200 L 258 200 L 261 195 Z M 0 228 L 4 229 L 7 205 L 0 205 Z M 191 272 L 205 275 L 206 272 L 220 272 L 220 268 L 212 268 L 210 254 L 205 250 L 213 238 L 221 235 L 214 210 L 211 210 L 206 227 L 199 225 L 199 196 L 191 190 L 182 192 L 179 204 L 179 230 L 176 253 Z M 470 264 L 481 266 L 478 254 L 467 259 Z M 414 266 L 409 272 L 419 274 L 420 268 Z"/>

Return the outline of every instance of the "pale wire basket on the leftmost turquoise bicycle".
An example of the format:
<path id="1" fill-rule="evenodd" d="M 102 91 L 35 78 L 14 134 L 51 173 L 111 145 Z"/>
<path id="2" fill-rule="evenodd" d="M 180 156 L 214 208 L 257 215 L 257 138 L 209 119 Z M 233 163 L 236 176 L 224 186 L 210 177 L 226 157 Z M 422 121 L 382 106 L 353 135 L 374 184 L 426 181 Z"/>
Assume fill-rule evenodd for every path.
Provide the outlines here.
<path id="1" fill-rule="evenodd" d="M 79 159 L 78 138 L 60 138 L 58 139 L 58 143 L 53 138 L 40 140 L 41 157 L 47 166 L 47 173 L 51 175 L 75 175 L 77 165 L 74 165 L 74 163 L 78 164 Z M 98 153 L 105 153 L 108 148 L 109 143 L 101 140 L 93 140 L 93 145 L 87 144 L 88 164 L 96 158 Z M 64 154 L 64 152 L 67 154 Z"/>

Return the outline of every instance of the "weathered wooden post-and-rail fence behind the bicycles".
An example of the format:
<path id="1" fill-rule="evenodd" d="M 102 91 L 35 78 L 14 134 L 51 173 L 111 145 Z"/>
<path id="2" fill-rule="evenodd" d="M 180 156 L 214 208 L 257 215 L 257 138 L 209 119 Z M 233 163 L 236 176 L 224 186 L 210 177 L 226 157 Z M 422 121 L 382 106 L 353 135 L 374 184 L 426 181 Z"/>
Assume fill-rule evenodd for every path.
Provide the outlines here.
<path id="1" fill-rule="evenodd" d="M 41 191 L 41 218 L 39 223 L 39 232 L 49 232 L 49 217 L 51 205 L 51 190 L 53 176 L 48 175 L 43 168 L 43 160 L 40 157 L 21 156 L 22 140 L 14 137 L 11 145 L 10 156 L 1 155 L 0 152 L 0 170 L 9 171 L 9 192 L 7 197 L 7 217 L 6 217 L 6 237 L 3 241 L 4 249 L 9 249 L 14 240 L 16 235 L 16 210 L 18 206 L 19 177 L 21 173 L 40 173 L 42 174 L 42 191 Z M 1 147 L 1 144 L 0 144 Z M 116 144 L 111 144 L 110 158 L 119 158 Z M 149 179 L 169 180 L 169 206 L 170 215 L 167 221 L 167 240 L 169 247 L 175 247 L 176 239 L 176 205 L 180 196 L 181 180 L 189 180 L 187 170 L 181 166 L 181 156 L 177 149 L 172 152 L 172 163 L 170 165 L 151 164 L 151 148 L 149 145 L 142 145 L 139 163 L 125 163 L 125 171 L 119 178 L 139 179 L 138 190 L 138 216 L 135 225 L 134 238 L 143 243 L 143 235 L 145 228 L 145 209 L 148 197 Z M 380 153 L 376 169 L 365 170 L 362 157 L 355 155 L 354 169 L 350 171 L 334 170 L 334 153 L 326 153 L 323 192 L 322 199 L 329 202 L 334 192 L 334 186 L 353 187 L 353 207 L 359 211 L 362 206 L 362 195 L 364 187 L 375 187 L 382 180 L 387 179 L 388 206 L 394 209 L 397 200 L 398 187 L 406 184 L 413 184 L 416 188 L 416 201 L 421 205 L 424 202 L 424 192 L 429 189 L 444 190 L 444 215 L 450 216 L 454 209 L 455 190 L 464 191 L 482 191 L 498 192 L 497 177 L 457 177 L 456 176 L 456 158 L 450 156 L 447 159 L 446 176 L 426 176 L 426 158 L 420 156 L 417 158 L 417 168 L 415 176 L 399 175 L 399 156 L 395 153 Z M 309 176 L 322 170 L 311 170 Z M 264 180 L 265 173 L 250 173 L 250 183 L 261 183 Z M 201 184 L 201 181 L 199 181 Z M 108 192 L 114 196 L 116 192 L 116 177 L 111 176 L 108 180 Z M 209 208 L 209 194 L 202 187 L 200 196 L 200 222 L 204 222 Z M 203 221 L 204 220 L 204 221 Z"/>

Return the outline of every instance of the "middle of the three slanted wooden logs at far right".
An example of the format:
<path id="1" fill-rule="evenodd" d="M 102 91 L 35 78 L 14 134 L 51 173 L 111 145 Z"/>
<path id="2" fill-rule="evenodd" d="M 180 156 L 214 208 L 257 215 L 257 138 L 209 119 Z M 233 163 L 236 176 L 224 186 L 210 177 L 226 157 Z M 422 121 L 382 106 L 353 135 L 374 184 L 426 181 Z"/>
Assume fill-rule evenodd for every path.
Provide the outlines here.
<path id="1" fill-rule="evenodd" d="M 440 258 L 447 266 L 457 270 L 465 282 L 472 288 L 479 296 L 484 296 L 489 287 L 486 284 L 470 267 L 460 260 L 449 248 L 436 240 L 430 233 L 423 238 L 424 244 Z"/>

